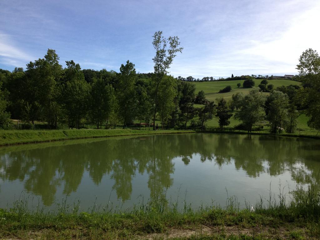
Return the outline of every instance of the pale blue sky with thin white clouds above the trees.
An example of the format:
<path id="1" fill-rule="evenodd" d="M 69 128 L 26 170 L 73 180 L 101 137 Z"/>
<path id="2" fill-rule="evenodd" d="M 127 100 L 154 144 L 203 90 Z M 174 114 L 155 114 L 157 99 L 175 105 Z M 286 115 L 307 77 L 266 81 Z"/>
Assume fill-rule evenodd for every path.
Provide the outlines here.
<path id="1" fill-rule="evenodd" d="M 319 0 L 0 0 L 0 68 L 26 67 L 54 49 L 60 64 L 153 72 L 152 36 L 178 36 L 177 76 L 297 74 L 320 51 Z"/>

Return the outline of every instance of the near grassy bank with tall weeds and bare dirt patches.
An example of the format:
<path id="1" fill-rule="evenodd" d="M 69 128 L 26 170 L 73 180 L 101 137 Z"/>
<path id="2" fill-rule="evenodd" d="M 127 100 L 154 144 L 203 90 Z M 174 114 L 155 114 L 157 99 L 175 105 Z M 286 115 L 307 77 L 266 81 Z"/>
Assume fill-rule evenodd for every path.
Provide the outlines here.
<path id="1" fill-rule="evenodd" d="M 236 197 L 224 207 L 188 204 L 178 209 L 165 195 L 131 210 L 105 206 L 79 211 L 79 204 L 57 205 L 54 212 L 28 210 L 19 200 L 10 210 L 0 210 L 2 239 L 319 239 L 320 199 L 313 188 L 294 191 L 285 202 L 278 195 L 240 208 Z"/>

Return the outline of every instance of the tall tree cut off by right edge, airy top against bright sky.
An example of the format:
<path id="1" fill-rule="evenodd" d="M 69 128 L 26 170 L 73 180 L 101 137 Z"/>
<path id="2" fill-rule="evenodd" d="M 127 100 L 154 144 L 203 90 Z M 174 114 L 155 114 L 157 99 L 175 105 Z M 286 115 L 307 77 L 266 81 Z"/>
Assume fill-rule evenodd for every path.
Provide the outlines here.
<path id="1" fill-rule="evenodd" d="M 297 65 L 304 86 L 304 107 L 309 117 L 308 126 L 320 131 L 320 57 L 315 50 L 304 51 Z"/>

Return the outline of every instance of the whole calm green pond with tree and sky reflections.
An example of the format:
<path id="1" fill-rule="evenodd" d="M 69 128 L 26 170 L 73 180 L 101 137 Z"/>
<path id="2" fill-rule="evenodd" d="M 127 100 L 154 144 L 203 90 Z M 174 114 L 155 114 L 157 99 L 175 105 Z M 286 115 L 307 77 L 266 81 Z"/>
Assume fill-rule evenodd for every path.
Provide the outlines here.
<path id="1" fill-rule="evenodd" d="M 178 204 L 240 206 L 288 200 L 297 182 L 319 183 L 320 141 L 237 134 L 68 140 L 0 148 L 0 207 L 18 199 L 56 208 L 130 208 L 165 191 Z"/>

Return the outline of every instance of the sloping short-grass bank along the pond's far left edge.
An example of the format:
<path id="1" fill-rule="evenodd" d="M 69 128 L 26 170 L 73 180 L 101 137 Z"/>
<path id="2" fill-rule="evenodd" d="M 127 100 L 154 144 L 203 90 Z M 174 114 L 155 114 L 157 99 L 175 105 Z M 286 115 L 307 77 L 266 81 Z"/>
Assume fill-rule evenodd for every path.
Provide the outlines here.
<path id="1" fill-rule="evenodd" d="M 68 139 L 99 138 L 145 134 L 190 133 L 191 130 L 131 130 L 131 129 L 80 129 L 80 130 L 0 130 L 0 146 Z"/>

